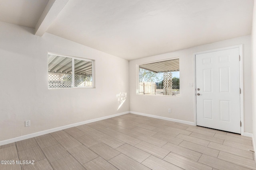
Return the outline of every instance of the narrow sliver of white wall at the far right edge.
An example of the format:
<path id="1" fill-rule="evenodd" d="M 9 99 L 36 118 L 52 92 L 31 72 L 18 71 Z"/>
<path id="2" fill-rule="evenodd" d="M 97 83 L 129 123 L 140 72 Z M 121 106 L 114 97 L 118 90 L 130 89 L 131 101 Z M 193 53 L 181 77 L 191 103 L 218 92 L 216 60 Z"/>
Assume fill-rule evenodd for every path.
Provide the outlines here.
<path id="1" fill-rule="evenodd" d="M 254 0 L 252 20 L 252 134 L 256 149 L 256 0 Z"/>

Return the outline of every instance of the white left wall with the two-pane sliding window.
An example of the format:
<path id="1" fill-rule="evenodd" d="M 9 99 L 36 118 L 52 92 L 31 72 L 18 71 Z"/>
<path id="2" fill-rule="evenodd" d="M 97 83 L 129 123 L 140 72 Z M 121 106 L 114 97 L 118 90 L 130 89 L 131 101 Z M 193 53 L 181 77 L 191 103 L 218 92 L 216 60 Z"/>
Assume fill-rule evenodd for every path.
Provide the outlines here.
<path id="1" fill-rule="evenodd" d="M 128 61 L 33 33 L 0 22 L 0 141 L 129 111 Z M 48 90 L 48 52 L 95 60 L 96 88 Z"/>

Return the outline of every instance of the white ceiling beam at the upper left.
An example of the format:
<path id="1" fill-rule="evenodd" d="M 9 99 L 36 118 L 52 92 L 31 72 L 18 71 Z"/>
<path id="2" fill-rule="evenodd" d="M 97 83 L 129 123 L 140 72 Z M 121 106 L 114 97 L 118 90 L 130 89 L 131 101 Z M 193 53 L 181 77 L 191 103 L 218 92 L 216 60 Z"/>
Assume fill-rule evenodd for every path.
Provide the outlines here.
<path id="1" fill-rule="evenodd" d="M 49 0 L 44 12 L 36 23 L 35 35 L 42 36 L 68 3 L 68 0 Z"/>

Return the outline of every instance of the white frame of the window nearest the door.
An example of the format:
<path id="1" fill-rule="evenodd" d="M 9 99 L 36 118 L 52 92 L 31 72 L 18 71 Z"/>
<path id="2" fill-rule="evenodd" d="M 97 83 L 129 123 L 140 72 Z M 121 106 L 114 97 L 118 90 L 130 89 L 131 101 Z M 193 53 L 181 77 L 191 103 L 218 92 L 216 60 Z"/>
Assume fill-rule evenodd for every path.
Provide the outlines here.
<path id="1" fill-rule="evenodd" d="M 179 59 L 179 62 L 180 62 L 180 57 L 174 57 L 174 58 L 169 58 L 169 59 L 164 59 L 164 60 L 157 60 L 157 61 L 150 61 L 150 62 L 146 62 L 146 63 L 136 64 L 136 95 L 138 95 L 138 96 L 180 97 L 180 95 L 179 96 L 169 96 L 169 95 L 140 94 L 140 81 L 139 81 L 140 65 L 152 64 L 152 63 L 158 63 L 158 62 L 170 61 L 170 60 L 176 60 L 176 59 Z M 179 63 L 179 67 L 180 67 L 180 63 Z M 180 72 L 180 69 L 179 69 L 179 72 Z"/>

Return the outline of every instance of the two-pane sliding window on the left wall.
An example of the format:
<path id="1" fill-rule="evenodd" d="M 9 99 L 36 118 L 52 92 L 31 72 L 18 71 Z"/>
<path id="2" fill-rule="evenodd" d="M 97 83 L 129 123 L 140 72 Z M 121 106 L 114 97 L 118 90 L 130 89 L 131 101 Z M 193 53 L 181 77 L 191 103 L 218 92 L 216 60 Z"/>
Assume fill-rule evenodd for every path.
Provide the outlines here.
<path id="1" fill-rule="evenodd" d="M 79 59 L 48 54 L 48 88 L 93 88 L 93 64 Z"/>

